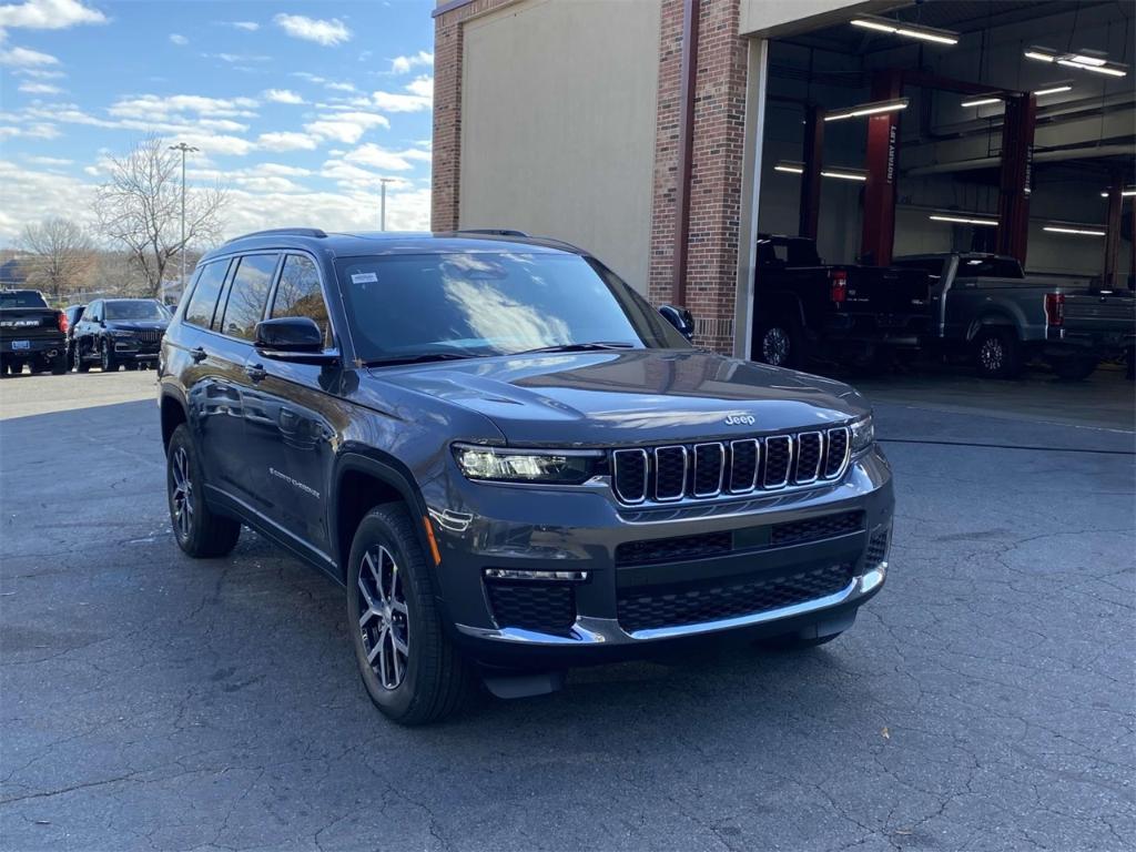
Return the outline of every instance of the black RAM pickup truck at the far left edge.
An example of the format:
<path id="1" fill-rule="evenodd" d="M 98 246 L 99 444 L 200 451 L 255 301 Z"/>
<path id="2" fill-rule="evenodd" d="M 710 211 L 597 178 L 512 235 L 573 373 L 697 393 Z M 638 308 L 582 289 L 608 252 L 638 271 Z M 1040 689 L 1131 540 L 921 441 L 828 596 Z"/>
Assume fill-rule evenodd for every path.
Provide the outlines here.
<path id="1" fill-rule="evenodd" d="M 64 312 L 49 308 L 37 290 L 0 290 L 0 376 L 67 371 Z"/>

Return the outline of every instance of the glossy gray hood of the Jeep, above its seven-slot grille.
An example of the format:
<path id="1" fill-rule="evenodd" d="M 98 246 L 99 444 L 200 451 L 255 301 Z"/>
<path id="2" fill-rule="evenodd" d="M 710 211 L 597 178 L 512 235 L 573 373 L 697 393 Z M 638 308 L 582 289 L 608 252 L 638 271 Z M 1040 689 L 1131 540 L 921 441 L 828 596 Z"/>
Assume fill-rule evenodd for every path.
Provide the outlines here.
<path id="1" fill-rule="evenodd" d="M 869 410 L 838 382 L 696 350 L 483 358 L 370 376 L 484 415 L 528 446 L 729 440 Z"/>

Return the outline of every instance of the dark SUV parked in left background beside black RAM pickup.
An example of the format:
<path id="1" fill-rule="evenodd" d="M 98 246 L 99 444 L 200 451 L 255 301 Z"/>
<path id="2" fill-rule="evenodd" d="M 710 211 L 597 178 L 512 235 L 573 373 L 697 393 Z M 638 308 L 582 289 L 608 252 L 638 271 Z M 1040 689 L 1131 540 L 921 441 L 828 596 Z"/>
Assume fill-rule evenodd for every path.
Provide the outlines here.
<path id="1" fill-rule="evenodd" d="M 116 373 L 123 365 L 137 369 L 158 362 L 161 335 L 169 312 L 156 299 L 95 299 L 83 311 L 73 333 L 75 369 L 92 366 Z"/>

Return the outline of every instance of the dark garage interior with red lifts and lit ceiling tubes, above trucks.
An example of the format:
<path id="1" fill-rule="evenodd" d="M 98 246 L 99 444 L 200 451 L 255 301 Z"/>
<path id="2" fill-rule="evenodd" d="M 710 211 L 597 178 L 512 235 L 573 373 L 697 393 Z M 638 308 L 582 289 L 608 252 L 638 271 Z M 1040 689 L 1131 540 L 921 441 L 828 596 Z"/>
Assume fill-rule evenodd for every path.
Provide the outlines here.
<path id="1" fill-rule="evenodd" d="M 758 228 L 816 236 L 832 264 L 996 251 L 1031 275 L 1131 286 L 1133 15 L 913 3 L 772 40 Z M 896 108 L 843 117 L 874 103 Z M 869 179 L 889 166 L 894 194 Z"/>

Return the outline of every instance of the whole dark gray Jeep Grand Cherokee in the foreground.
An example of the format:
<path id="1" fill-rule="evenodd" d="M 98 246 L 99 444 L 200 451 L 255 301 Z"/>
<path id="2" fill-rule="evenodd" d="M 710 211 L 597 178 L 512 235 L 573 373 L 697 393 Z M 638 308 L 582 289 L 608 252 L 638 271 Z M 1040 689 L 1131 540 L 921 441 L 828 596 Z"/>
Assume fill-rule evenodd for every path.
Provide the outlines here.
<path id="1" fill-rule="evenodd" d="M 855 391 L 693 349 L 556 241 L 234 240 L 166 333 L 159 404 L 182 550 L 243 523 L 343 584 L 403 724 L 476 676 L 516 696 L 718 634 L 820 644 L 887 569 Z"/>

